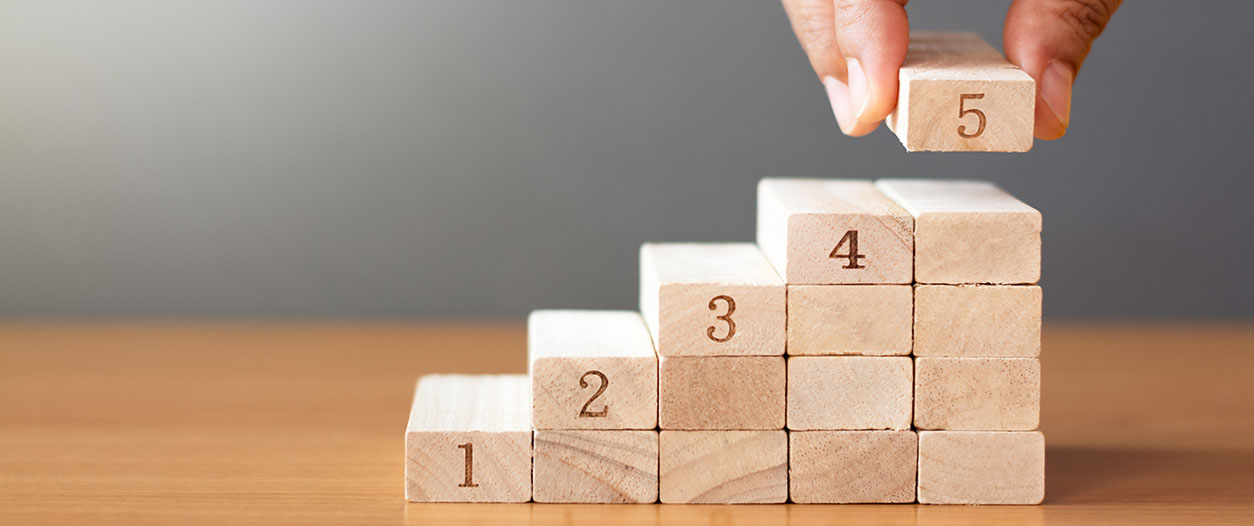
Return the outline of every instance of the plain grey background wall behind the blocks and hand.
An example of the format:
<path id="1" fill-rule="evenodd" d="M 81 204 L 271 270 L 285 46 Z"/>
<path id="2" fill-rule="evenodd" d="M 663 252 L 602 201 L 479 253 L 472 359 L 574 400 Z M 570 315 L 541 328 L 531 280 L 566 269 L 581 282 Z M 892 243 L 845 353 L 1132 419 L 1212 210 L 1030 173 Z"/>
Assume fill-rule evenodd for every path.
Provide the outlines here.
<path id="1" fill-rule="evenodd" d="M 0 1 L 0 315 L 630 308 L 638 244 L 751 240 L 760 177 L 910 176 L 1037 206 L 1051 316 L 1251 316 L 1251 19 L 1129 3 L 1065 139 L 907 154 L 774 1 Z"/>

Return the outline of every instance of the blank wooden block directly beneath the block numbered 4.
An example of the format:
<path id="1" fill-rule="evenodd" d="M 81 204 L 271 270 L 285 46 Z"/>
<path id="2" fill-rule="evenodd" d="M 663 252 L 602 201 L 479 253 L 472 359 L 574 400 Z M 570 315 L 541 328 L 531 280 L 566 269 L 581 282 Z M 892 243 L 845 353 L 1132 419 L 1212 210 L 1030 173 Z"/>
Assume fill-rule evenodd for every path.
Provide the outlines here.
<path id="1" fill-rule="evenodd" d="M 789 285 L 788 354 L 910 354 L 909 285 Z"/>

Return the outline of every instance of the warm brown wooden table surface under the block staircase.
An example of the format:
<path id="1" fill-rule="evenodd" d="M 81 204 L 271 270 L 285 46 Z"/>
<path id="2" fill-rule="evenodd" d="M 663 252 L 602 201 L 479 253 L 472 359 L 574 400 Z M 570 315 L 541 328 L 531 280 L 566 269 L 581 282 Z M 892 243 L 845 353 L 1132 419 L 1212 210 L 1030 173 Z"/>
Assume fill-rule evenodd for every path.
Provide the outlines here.
<path id="1" fill-rule="evenodd" d="M 418 375 L 522 324 L 0 325 L 0 523 L 1254 521 L 1254 325 L 1045 329 L 1042 506 L 418 505 Z"/>

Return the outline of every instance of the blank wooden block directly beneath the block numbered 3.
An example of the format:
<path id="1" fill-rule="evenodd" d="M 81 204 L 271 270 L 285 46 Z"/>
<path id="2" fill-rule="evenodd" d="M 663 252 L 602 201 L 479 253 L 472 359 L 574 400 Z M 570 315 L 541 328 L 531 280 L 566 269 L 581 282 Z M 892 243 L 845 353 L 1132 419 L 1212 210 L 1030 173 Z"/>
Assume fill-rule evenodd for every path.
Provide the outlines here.
<path id="1" fill-rule="evenodd" d="M 662 357 L 662 429 L 782 429 L 782 357 Z"/>

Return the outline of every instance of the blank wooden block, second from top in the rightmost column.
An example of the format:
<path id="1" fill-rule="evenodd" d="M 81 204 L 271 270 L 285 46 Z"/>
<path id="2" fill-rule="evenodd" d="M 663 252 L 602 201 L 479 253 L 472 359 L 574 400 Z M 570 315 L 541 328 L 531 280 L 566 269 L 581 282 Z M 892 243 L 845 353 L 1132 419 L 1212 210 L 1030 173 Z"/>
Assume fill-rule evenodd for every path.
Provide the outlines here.
<path id="1" fill-rule="evenodd" d="M 1041 287 L 915 286 L 914 355 L 1040 357 Z"/>

